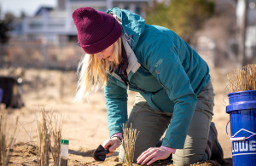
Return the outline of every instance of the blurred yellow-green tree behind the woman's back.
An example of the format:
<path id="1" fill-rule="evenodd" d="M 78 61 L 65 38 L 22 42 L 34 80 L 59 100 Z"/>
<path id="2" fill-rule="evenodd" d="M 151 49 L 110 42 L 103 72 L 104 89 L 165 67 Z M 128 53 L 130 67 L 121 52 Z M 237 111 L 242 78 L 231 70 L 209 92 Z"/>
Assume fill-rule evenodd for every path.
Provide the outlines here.
<path id="1" fill-rule="evenodd" d="M 154 7 L 147 10 L 146 23 L 171 29 L 189 43 L 194 32 L 213 13 L 214 1 L 172 0 L 169 3 L 154 3 Z"/>

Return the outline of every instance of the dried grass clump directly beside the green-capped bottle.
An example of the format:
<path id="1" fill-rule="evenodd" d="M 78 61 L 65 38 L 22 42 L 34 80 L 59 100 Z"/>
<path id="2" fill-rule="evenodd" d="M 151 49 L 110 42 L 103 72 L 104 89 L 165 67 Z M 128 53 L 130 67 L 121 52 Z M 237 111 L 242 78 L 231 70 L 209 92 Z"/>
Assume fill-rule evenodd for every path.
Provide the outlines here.
<path id="1" fill-rule="evenodd" d="M 53 112 L 48 115 L 49 135 L 50 135 L 50 150 L 54 160 L 54 165 L 59 166 L 61 161 L 61 138 L 62 126 L 64 118 L 62 116 L 53 115 Z"/>

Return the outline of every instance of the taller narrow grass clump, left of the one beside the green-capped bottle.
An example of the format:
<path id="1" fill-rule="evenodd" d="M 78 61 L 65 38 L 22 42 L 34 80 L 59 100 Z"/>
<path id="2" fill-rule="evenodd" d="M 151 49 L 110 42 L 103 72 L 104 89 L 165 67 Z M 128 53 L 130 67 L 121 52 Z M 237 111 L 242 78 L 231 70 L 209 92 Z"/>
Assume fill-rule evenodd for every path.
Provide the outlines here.
<path id="1" fill-rule="evenodd" d="M 48 166 L 49 165 L 49 132 L 47 126 L 47 117 L 46 117 L 46 109 L 44 107 L 40 107 L 39 111 L 41 113 L 41 117 L 37 118 L 38 123 L 38 152 L 39 152 L 39 166 Z"/>

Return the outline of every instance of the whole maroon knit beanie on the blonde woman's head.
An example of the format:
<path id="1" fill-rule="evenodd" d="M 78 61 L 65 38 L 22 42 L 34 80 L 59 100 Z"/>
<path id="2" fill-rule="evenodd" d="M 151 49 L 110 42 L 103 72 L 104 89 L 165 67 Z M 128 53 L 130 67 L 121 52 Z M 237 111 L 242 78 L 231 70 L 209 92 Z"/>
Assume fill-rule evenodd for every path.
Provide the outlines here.
<path id="1" fill-rule="evenodd" d="M 79 45 L 87 54 L 96 54 L 115 43 L 122 34 L 112 15 L 90 7 L 76 9 L 73 22 L 78 29 Z"/>

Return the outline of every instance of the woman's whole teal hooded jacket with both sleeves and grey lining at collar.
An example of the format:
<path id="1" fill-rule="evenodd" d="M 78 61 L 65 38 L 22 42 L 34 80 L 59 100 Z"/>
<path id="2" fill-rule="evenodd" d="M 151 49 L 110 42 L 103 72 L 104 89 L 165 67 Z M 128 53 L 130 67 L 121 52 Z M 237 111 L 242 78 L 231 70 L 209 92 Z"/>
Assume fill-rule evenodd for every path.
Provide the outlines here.
<path id="1" fill-rule="evenodd" d="M 209 68 L 200 55 L 173 31 L 145 24 L 142 17 L 113 8 L 128 56 L 128 86 L 115 72 L 104 89 L 109 135 L 122 132 L 127 121 L 127 90 L 139 92 L 148 105 L 172 113 L 163 146 L 183 149 L 197 97 L 209 79 Z"/>

